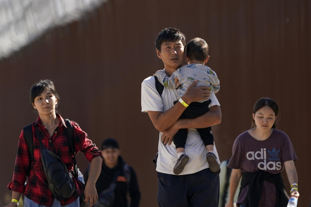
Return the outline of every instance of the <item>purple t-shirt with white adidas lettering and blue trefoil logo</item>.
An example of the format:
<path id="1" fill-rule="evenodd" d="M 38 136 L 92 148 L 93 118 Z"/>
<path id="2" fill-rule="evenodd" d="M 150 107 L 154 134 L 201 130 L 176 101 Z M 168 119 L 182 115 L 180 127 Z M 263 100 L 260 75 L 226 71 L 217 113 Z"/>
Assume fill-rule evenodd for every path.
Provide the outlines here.
<path id="1" fill-rule="evenodd" d="M 284 162 L 297 160 L 289 137 L 282 131 L 273 129 L 266 140 L 257 140 L 247 131 L 234 141 L 232 157 L 228 167 L 254 173 L 259 169 L 268 173 L 281 173 Z M 237 203 L 244 204 L 248 185 L 242 190 Z M 239 189 L 237 189 L 239 191 Z M 272 182 L 263 182 L 260 207 L 276 206 L 276 187 Z"/>

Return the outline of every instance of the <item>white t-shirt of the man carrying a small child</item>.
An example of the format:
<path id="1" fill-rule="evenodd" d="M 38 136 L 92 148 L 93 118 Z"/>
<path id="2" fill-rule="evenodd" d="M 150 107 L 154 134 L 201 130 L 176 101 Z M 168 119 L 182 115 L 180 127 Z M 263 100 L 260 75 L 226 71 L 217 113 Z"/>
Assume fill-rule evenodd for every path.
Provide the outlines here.
<path id="1" fill-rule="evenodd" d="M 211 106 L 220 106 L 215 94 L 210 96 Z M 165 112 L 172 106 L 173 102 L 177 100 L 177 89 L 164 87 L 162 97 L 160 97 L 156 90 L 156 83 L 154 76 L 146 78 L 142 82 L 142 112 L 161 111 Z M 176 147 L 174 142 L 171 145 L 164 145 L 161 142 L 162 133 L 159 136 L 158 151 L 159 156 L 157 160 L 156 171 L 166 174 L 174 174 L 173 168 L 178 159 Z M 217 156 L 217 161 L 220 163 L 218 153 L 214 143 L 214 152 Z M 209 168 L 206 161 L 207 149 L 196 129 L 188 129 L 188 138 L 185 145 L 185 154 L 189 156 L 189 161 L 185 165 L 183 172 L 179 175 L 192 174 L 203 169 Z"/>

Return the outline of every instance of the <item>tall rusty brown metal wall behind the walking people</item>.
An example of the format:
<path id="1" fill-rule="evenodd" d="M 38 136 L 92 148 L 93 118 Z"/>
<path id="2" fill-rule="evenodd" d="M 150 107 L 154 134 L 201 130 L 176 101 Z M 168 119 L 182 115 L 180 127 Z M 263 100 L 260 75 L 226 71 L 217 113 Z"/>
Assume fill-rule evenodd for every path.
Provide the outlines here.
<path id="1" fill-rule="evenodd" d="M 109 1 L 0 61 L 0 205 L 11 196 L 6 186 L 21 129 L 37 117 L 28 103 L 29 88 L 46 78 L 55 82 L 63 117 L 77 121 L 98 145 L 106 137 L 120 142 L 122 156 L 137 172 L 140 206 L 157 206 L 152 158 L 158 132 L 141 112 L 140 88 L 143 79 L 163 68 L 154 41 L 164 27 L 209 44 L 207 65 L 221 84 L 222 122 L 212 127 L 220 160 L 230 158 L 234 139 L 249 129 L 255 101 L 271 97 L 280 107 L 277 128 L 288 134 L 299 159 L 299 205 L 309 204 L 311 2 L 193 4 Z M 86 169 L 83 155 L 79 164 Z M 289 191 L 285 171 L 282 175 Z"/>

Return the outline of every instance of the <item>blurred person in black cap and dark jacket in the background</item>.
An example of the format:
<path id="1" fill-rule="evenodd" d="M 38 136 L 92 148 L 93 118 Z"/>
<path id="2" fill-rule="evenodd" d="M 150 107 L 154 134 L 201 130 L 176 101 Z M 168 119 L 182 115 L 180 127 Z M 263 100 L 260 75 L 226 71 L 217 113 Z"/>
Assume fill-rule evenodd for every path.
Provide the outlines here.
<path id="1" fill-rule="evenodd" d="M 120 156 L 118 142 L 112 138 L 104 140 L 101 144 L 104 163 L 95 187 L 98 201 L 96 207 L 137 207 L 140 201 L 136 173 Z M 88 179 L 89 168 L 86 170 L 85 179 Z M 128 205 L 127 194 L 131 200 Z"/>

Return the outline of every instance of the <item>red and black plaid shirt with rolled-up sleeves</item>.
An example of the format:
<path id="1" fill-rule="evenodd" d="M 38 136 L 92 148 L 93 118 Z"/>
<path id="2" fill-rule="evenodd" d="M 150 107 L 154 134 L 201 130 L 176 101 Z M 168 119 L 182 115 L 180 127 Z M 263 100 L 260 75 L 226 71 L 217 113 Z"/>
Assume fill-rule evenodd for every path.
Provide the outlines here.
<path id="1" fill-rule="evenodd" d="M 20 193 L 24 192 L 24 196 L 33 200 L 34 202 L 51 206 L 53 205 L 54 197 L 49 190 L 47 178 L 44 173 L 44 169 L 41 161 L 41 153 L 39 147 L 39 141 L 37 139 L 35 126 L 38 124 L 39 131 L 42 132 L 42 142 L 45 147 L 55 152 L 66 164 L 68 171 L 73 169 L 73 155 L 69 150 L 69 143 L 64 132 L 66 127 L 64 119 L 56 114 L 60 118 L 58 127 L 55 129 L 52 137 L 49 136 L 48 130 L 43 126 L 40 117 L 32 123 L 32 133 L 34 138 L 34 160 L 30 161 L 28 146 L 24 139 L 23 130 L 18 140 L 17 155 L 15 160 L 15 168 L 13 173 L 13 181 L 7 186 L 12 191 Z M 73 127 L 73 139 L 75 142 L 75 151 L 81 151 L 84 153 L 85 158 L 91 162 L 94 157 L 101 156 L 101 152 L 97 149 L 95 144 L 88 139 L 87 134 L 81 130 L 76 122 L 71 121 Z M 26 174 L 30 170 L 28 183 L 25 186 Z M 67 205 L 76 200 L 82 193 L 83 188 L 80 182 L 77 182 L 75 178 L 73 181 L 76 184 L 75 193 L 66 200 L 61 200 L 60 204 Z"/>

